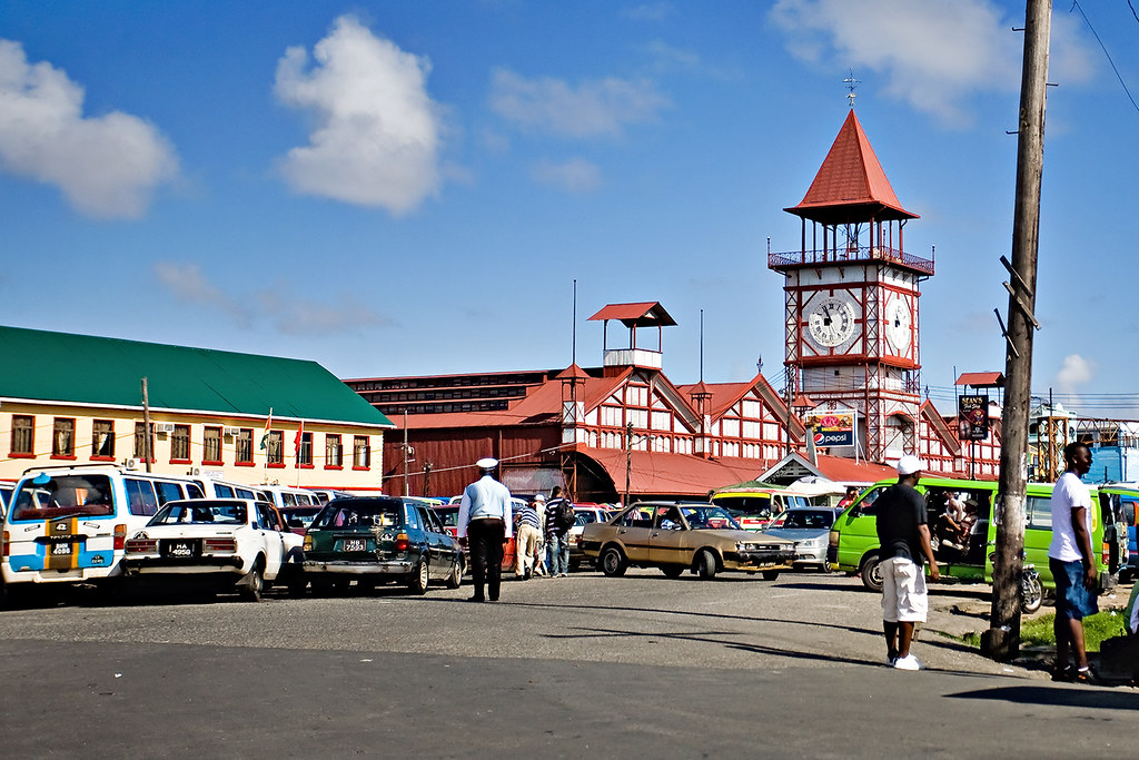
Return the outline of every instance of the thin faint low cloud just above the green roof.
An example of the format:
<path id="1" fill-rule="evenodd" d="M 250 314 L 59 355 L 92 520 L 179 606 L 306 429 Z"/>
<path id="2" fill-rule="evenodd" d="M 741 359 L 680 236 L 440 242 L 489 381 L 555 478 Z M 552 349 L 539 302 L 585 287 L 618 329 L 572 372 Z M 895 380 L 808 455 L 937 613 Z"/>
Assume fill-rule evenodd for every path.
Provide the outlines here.
<path id="1" fill-rule="evenodd" d="M 349 293 L 316 301 L 297 295 L 286 283 L 278 283 L 253 293 L 233 294 L 208 281 L 195 263 L 159 261 L 154 271 L 158 283 L 180 303 L 216 309 L 244 329 L 268 320 L 285 335 L 327 335 L 395 324 Z"/>

